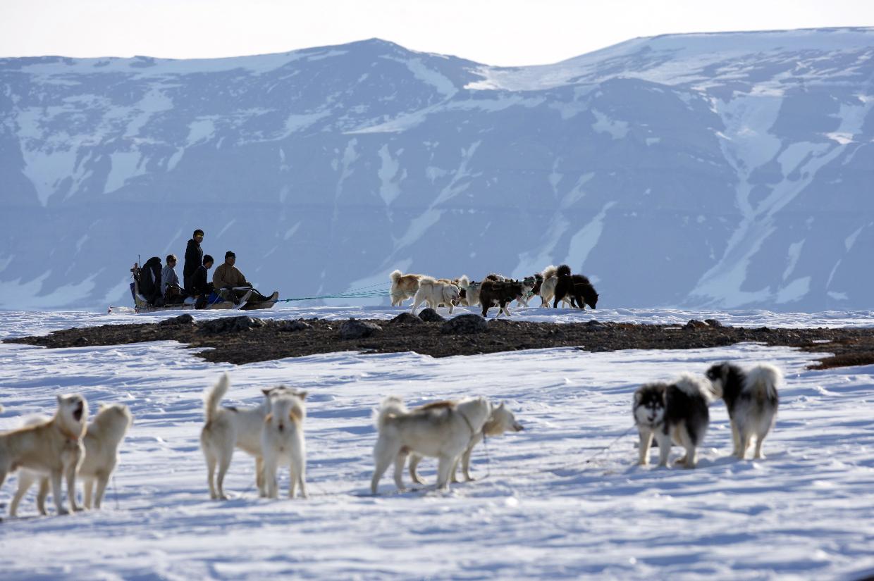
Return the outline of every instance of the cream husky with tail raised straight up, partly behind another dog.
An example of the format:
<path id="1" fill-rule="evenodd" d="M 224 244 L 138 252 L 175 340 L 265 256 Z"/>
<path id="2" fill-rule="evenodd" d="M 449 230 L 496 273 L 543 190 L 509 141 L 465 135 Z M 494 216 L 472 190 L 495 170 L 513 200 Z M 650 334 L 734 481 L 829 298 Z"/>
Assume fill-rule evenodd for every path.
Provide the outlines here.
<path id="1" fill-rule="evenodd" d="M 261 428 L 264 418 L 270 411 L 270 394 L 288 391 L 287 387 L 274 387 L 261 390 L 264 401 L 257 407 L 239 410 L 235 407 L 219 408 L 231 380 L 225 373 L 212 389 L 205 391 L 204 429 L 200 432 L 200 447 L 206 459 L 206 481 L 210 486 L 210 498 L 227 500 L 225 495 L 225 474 L 231 466 L 233 449 L 239 448 L 255 457 L 255 481 L 259 490 L 263 489 L 263 466 L 261 462 Z M 215 476 L 218 466 L 218 479 Z"/>

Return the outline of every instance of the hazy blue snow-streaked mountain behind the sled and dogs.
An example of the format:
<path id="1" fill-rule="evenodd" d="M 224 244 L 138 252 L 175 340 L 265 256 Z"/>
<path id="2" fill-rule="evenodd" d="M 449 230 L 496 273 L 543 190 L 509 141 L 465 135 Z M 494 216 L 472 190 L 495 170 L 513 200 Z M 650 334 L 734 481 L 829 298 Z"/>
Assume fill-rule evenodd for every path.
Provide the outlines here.
<path id="1" fill-rule="evenodd" d="M 128 304 L 198 227 L 286 298 L 566 262 L 605 308 L 870 308 L 872 106 L 871 28 L 519 68 L 376 39 L 0 59 L 0 308 Z"/>

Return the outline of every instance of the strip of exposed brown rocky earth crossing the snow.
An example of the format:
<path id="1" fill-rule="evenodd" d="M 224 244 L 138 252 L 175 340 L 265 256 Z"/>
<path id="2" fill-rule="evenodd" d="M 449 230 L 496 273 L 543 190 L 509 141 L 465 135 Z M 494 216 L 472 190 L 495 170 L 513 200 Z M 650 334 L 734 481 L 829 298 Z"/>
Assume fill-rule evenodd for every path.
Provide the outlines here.
<path id="1" fill-rule="evenodd" d="M 476 317 L 478 315 L 466 315 Z M 364 322 L 364 321 L 361 321 Z M 832 353 L 812 367 L 827 369 L 874 363 L 874 329 L 758 329 L 723 327 L 718 322 L 691 321 L 684 326 L 614 322 L 551 323 L 491 320 L 481 332 L 468 329 L 447 333 L 440 321 L 423 322 L 418 317 L 399 316 L 394 321 L 366 321 L 379 330 L 355 335 L 343 321 L 308 319 L 261 321 L 249 317 L 194 322 L 188 315 L 152 324 L 103 325 L 65 329 L 51 335 L 5 339 L 5 342 L 42 345 L 49 348 L 118 345 L 133 342 L 177 341 L 192 348 L 210 347 L 198 353 L 212 362 L 252 363 L 284 357 L 335 351 L 392 353 L 415 351 L 434 357 L 478 355 L 517 349 L 577 347 L 586 351 L 618 349 L 701 349 L 739 342 L 784 345 L 805 351 Z M 229 329 L 219 329 L 218 327 Z M 343 332 L 341 332 L 343 328 Z M 464 332 L 467 330 L 468 332 Z"/>

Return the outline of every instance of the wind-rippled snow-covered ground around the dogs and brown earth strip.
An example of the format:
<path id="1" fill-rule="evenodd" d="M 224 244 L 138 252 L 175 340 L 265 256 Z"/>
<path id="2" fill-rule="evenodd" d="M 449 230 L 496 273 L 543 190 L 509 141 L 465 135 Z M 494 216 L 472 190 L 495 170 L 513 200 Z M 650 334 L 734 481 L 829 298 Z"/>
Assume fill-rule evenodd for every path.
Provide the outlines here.
<path id="1" fill-rule="evenodd" d="M 397 313 L 300 308 L 252 315 Z M 592 316 L 545 309 L 519 315 Z M 871 312 L 597 315 L 602 321 L 874 326 Z M 154 318 L 0 313 L 0 337 Z M 635 432 L 626 433 L 635 388 L 726 359 L 772 362 L 786 373 L 767 459 L 728 457 L 727 415 L 717 403 L 697 469 L 636 467 Z M 874 570 L 874 366 L 806 370 L 813 359 L 794 349 L 741 344 L 444 359 L 337 353 L 233 366 L 202 361 L 175 342 L 53 350 L 3 343 L 0 430 L 16 427 L 22 416 L 51 412 L 61 391 L 80 391 L 93 408 L 127 403 L 135 425 L 101 512 L 32 518 L 29 495 L 21 518 L 0 523 L 0 578 L 859 578 Z M 259 499 L 253 462 L 242 453 L 226 482 L 233 500 L 209 500 L 198 449 L 201 395 L 225 370 L 232 377 L 229 405 L 253 405 L 259 388 L 269 385 L 309 391 L 309 500 Z M 475 450 L 478 481 L 448 493 L 373 497 L 371 410 L 390 393 L 410 404 L 482 394 L 508 402 L 526 429 L 489 439 L 488 453 Z M 422 469 L 433 480 L 434 462 L 425 460 Z M 0 490 L 0 503 L 8 504 L 15 481 Z M 386 474 L 380 491 L 393 489 Z"/>

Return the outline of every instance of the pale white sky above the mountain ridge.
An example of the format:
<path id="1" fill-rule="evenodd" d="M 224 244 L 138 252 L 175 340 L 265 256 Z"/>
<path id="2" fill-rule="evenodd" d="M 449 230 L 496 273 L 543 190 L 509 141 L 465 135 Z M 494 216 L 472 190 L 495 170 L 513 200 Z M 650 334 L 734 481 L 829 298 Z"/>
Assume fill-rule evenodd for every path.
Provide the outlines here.
<path id="1" fill-rule="evenodd" d="M 874 0 L 0 0 L 0 57 L 212 58 L 383 38 L 488 65 L 677 32 L 874 26 Z"/>

